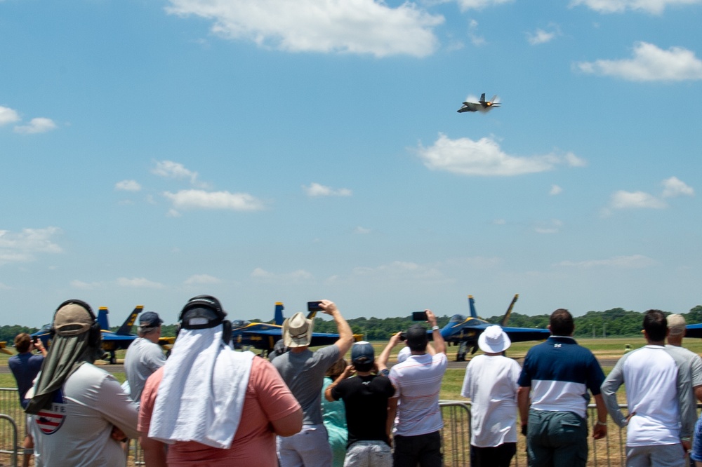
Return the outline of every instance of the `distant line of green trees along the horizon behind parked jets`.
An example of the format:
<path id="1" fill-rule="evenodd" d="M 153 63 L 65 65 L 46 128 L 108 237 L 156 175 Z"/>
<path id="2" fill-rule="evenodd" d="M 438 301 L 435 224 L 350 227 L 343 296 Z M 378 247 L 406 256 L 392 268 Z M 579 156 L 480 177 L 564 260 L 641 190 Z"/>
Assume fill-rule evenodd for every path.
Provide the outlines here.
<path id="1" fill-rule="evenodd" d="M 664 312 L 666 315 L 669 312 Z M 688 313 L 681 313 L 687 324 L 702 323 L 702 305 L 697 305 L 690 309 Z M 541 327 L 548 326 L 549 314 L 527 316 L 521 313 L 512 313 L 507 323 L 512 327 Z M 444 327 L 449 323 L 450 316 L 437 317 L 439 327 Z M 489 323 L 498 324 L 503 316 L 491 316 L 484 318 Z M 575 316 L 575 337 L 630 337 L 641 333 L 644 322 L 644 312 L 627 311 L 623 308 L 613 308 L 607 311 L 588 311 L 584 315 Z M 272 321 L 251 320 L 258 323 L 272 323 Z M 390 339 L 395 332 L 406 330 L 416 321 L 411 320 L 411 316 L 395 318 L 350 318 L 347 320 L 354 334 L 364 334 L 364 339 L 369 341 L 382 341 Z M 112 327 L 117 331 L 118 327 Z M 37 327 L 26 327 L 20 325 L 0 326 L 0 341 L 7 341 L 8 346 L 12 346 L 15 336 L 20 332 L 37 332 Z M 333 320 L 323 320 L 314 318 L 315 332 L 336 332 L 336 325 Z M 132 332 L 136 332 L 135 327 Z M 176 325 L 163 325 L 161 335 L 164 337 L 174 337 L 176 335 Z"/>

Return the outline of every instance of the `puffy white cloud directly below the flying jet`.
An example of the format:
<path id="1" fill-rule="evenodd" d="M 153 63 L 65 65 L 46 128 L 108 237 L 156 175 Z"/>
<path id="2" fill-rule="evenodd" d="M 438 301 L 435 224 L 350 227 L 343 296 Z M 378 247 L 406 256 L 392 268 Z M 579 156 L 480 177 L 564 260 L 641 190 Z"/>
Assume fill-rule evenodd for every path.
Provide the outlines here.
<path id="1" fill-rule="evenodd" d="M 442 133 L 439 133 L 439 139 L 433 146 L 425 148 L 420 145 L 417 151 L 424 165 L 432 170 L 486 177 L 524 175 L 552 170 L 562 163 L 574 167 L 585 163 L 572 153 L 565 156 L 510 156 L 505 154 L 498 142 L 491 137 L 484 137 L 478 141 L 470 138 L 451 140 Z"/>

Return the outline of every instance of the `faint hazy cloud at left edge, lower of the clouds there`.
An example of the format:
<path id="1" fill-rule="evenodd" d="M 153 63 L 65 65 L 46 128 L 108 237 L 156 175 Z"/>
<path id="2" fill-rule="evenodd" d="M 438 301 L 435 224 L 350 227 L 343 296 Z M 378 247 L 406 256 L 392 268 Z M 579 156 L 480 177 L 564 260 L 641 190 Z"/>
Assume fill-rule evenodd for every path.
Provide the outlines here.
<path id="1" fill-rule="evenodd" d="M 0 266 L 15 262 L 32 262 L 38 253 L 60 253 L 54 237 L 61 233 L 58 227 L 22 229 L 20 232 L 0 230 Z"/>

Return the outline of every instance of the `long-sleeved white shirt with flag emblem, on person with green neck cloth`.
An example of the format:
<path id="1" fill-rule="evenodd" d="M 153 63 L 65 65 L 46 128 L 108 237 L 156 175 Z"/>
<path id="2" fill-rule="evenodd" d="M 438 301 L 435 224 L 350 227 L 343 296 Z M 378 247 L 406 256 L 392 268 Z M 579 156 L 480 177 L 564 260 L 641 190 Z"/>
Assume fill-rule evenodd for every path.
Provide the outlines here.
<path id="1" fill-rule="evenodd" d="M 51 408 L 32 415 L 37 466 L 124 467 L 124 450 L 110 435 L 117 426 L 138 438 L 138 410 L 112 374 L 84 363 Z"/>

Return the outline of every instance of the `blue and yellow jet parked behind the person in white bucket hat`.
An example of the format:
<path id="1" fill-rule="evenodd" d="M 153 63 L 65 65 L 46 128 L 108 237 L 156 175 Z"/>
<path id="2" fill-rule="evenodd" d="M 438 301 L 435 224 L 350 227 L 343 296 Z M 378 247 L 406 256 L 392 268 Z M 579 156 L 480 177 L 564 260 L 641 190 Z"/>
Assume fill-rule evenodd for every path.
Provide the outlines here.
<path id="1" fill-rule="evenodd" d="M 548 339 L 550 332 L 547 329 L 507 326 L 507 322 L 512 314 L 512 309 L 515 303 L 517 303 L 518 298 L 519 294 L 516 294 L 507 309 L 507 313 L 505 313 L 505 316 L 503 316 L 500 321 L 500 326 L 510 337 L 510 340 L 512 342 L 524 342 Z M 475 299 L 473 299 L 472 295 L 468 295 L 468 305 L 470 306 L 470 316 L 468 318 L 463 315 L 453 315 L 449 320 L 449 324 L 444 326 L 441 330 L 441 335 L 444 337 L 446 343 L 458 346 L 456 360 L 459 362 L 465 361 L 468 348 L 471 348 L 471 354 L 477 351 L 478 337 L 486 327 L 493 325 L 493 323 L 488 323 L 486 320 L 478 318 L 475 312 Z"/>

